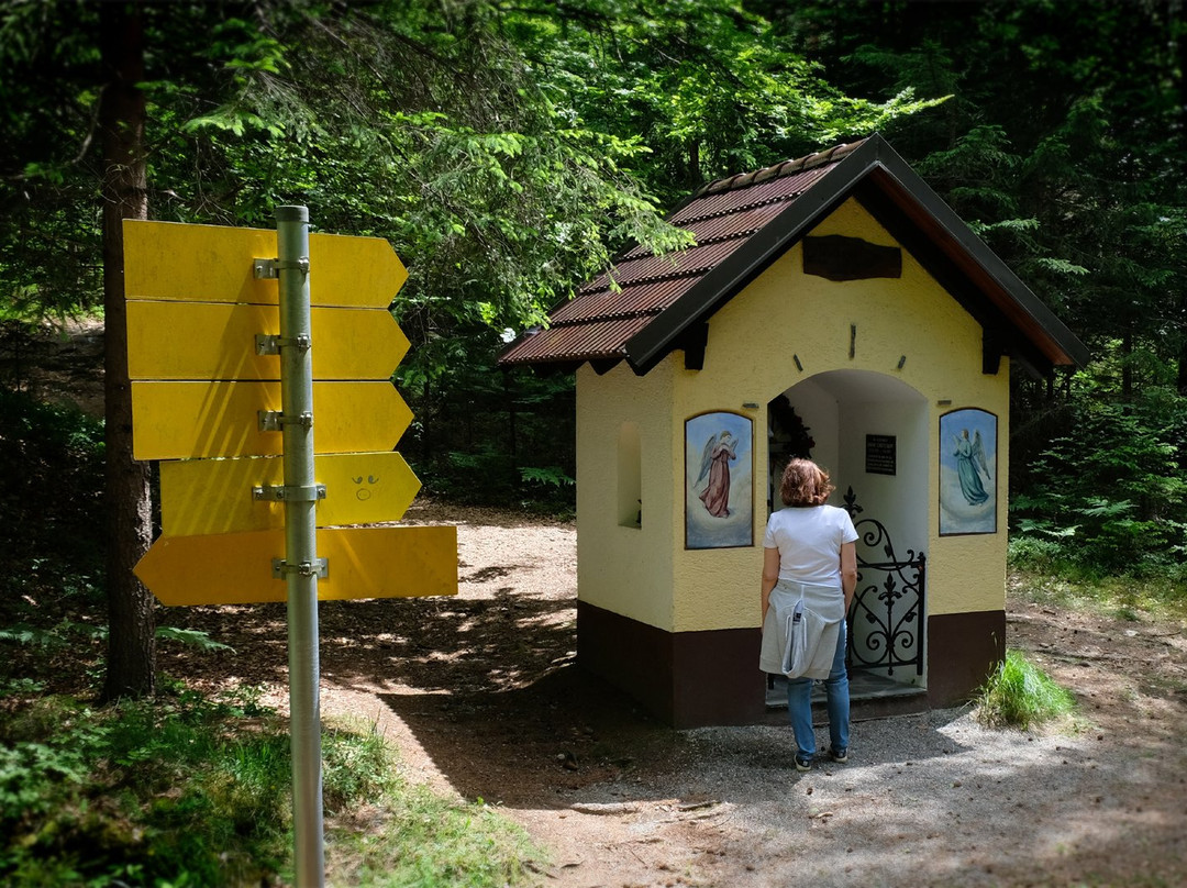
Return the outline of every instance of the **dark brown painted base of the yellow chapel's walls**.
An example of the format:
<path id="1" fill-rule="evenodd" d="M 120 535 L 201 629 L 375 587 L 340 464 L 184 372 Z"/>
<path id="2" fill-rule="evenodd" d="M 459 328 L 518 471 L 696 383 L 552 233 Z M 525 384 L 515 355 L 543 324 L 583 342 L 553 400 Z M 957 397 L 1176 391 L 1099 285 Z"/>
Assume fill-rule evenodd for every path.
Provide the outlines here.
<path id="1" fill-rule="evenodd" d="M 577 661 L 673 728 L 770 722 L 758 629 L 669 633 L 577 603 Z M 969 699 L 1005 655 L 1005 611 L 928 617 L 927 691 L 853 700 L 855 718 L 942 709 Z M 782 716 L 779 721 L 786 721 Z"/>

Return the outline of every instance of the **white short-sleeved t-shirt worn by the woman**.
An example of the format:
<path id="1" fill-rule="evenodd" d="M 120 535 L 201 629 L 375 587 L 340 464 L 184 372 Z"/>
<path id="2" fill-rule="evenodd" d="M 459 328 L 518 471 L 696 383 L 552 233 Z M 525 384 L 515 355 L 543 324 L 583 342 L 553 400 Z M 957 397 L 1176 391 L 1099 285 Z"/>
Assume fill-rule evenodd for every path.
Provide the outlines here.
<path id="1" fill-rule="evenodd" d="M 836 506 L 793 506 L 767 520 L 766 548 L 779 550 L 779 578 L 840 588 L 840 546 L 857 540 L 853 520 Z"/>

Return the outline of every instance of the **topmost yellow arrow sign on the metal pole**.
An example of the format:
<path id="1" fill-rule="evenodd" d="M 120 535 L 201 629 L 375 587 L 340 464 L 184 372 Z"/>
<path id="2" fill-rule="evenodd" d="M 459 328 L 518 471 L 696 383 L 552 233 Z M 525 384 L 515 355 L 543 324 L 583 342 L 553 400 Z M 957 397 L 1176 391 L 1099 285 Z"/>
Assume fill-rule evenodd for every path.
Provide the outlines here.
<path id="1" fill-rule="evenodd" d="M 264 228 L 123 222 L 123 292 L 128 299 L 279 304 L 274 279 L 258 279 L 256 259 L 275 259 L 277 233 Z M 382 237 L 309 236 L 310 303 L 386 309 L 408 272 Z"/>

